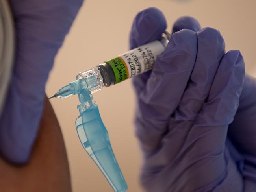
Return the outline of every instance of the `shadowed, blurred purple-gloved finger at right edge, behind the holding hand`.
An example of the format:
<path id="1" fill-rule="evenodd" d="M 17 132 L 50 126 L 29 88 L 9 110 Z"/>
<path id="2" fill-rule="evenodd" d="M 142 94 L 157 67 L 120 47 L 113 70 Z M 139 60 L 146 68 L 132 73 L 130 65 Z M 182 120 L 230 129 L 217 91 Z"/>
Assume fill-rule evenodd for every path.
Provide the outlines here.
<path id="1" fill-rule="evenodd" d="M 256 78 L 246 75 L 234 121 L 228 137 L 244 155 L 256 156 Z"/>

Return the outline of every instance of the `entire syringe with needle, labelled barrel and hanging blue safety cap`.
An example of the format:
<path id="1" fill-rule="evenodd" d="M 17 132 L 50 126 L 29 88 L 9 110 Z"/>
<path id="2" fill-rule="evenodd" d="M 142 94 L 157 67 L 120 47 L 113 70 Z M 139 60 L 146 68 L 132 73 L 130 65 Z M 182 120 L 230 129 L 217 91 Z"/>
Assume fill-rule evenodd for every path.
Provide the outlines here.
<path id="1" fill-rule="evenodd" d="M 78 137 L 85 151 L 115 192 L 125 192 L 128 186 L 91 93 L 152 69 L 156 57 L 167 46 L 169 36 L 169 33 L 165 32 L 160 40 L 139 46 L 95 68 L 78 73 L 76 81 L 62 87 L 50 97 L 66 98 L 72 94 L 78 94 L 81 103 L 78 105 L 80 115 L 76 119 Z"/>

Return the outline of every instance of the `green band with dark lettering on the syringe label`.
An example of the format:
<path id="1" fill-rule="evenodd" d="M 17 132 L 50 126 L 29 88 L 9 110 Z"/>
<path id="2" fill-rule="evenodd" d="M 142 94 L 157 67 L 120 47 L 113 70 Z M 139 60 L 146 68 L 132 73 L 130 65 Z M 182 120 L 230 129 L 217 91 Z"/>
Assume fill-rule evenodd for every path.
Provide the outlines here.
<path id="1" fill-rule="evenodd" d="M 128 79 L 128 72 L 126 69 L 126 64 L 122 61 L 120 57 L 116 57 L 114 59 L 111 59 L 110 61 L 107 61 L 115 74 L 115 84 L 124 81 L 125 79 Z"/>

